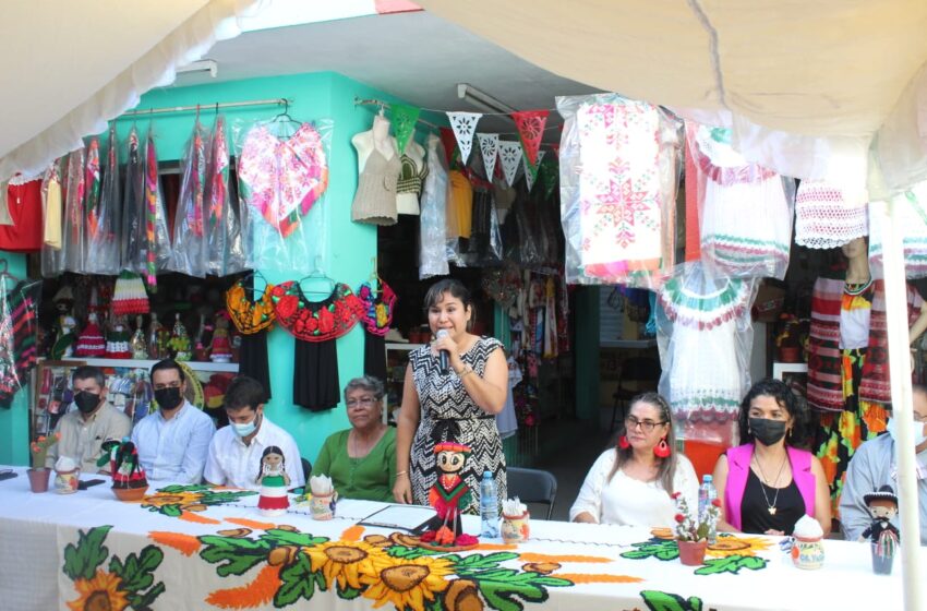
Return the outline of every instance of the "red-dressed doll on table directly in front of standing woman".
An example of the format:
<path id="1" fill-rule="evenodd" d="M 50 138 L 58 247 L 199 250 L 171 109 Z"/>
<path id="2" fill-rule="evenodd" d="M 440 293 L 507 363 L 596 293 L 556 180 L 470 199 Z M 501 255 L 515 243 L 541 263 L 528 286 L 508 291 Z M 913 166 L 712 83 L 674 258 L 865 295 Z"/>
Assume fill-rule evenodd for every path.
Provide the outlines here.
<path id="1" fill-rule="evenodd" d="M 429 523 L 421 541 L 446 548 L 475 544 L 478 539 L 465 534 L 460 522 L 460 513 L 470 504 L 473 494 L 460 476 L 467 465 L 470 446 L 446 441 L 435 444 L 434 454 L 438 476 L 429 492 L 429 504 L 437 511 L 437 515 Z"/>

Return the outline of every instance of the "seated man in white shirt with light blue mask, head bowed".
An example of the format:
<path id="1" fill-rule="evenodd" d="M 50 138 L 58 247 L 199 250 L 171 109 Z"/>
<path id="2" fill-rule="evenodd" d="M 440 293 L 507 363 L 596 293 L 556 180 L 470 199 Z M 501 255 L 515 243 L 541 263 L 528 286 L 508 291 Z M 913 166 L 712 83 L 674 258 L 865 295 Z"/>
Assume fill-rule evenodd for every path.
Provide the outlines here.
<path id="1" fill-rule="evenodd" d="M 276 445 L 284 452 L 290 487 L 305 484 L 297 442 L 264 414 L 265 397 L 261 382 L 246 375 L 229 384 L 225 398 L 229 426 L 216 431 L 209 444 L 204 474 L 207 482 L 257 490 L 264 448 Z"/>

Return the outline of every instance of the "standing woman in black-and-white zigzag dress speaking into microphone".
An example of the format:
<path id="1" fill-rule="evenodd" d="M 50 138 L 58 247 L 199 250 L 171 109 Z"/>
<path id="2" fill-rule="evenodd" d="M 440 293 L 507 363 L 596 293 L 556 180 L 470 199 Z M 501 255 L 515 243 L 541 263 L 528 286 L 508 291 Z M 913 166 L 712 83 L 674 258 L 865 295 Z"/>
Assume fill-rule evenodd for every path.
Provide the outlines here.
<path id="1" fill-rule="evenodd" d="M 450 440 L 472 448 L 467 472 L 461 474 L 470 490 L 480 490 L 482 474 L 489 470 L 498 499 L 505 499 L 505 456 L 495 424 L 508 392 L 502 343 L 468 332 L 473 302 L 459 280 L 432 285 L 425 311 L 435 340 L 409 355 L 393 495 L 399 503 L 428 505 L 437 479 L 434 446 Z M 479 502 L 473 494 L 465 513 L 478 514 Z"/>

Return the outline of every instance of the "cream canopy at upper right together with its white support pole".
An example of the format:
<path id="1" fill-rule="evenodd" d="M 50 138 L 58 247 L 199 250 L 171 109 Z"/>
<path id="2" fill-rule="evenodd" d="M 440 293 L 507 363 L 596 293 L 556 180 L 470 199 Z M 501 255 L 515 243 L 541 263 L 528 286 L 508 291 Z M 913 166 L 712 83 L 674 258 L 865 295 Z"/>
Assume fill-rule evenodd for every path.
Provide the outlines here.
<path id="1" fill-rule="evenodd" d="M 927 2 L 421 0 L 564 77 L 734 131 L 753 161 L 871 199 L 927 179 Z M 925 609 L 901 228 L 884 239 L 905 606 Z"/>

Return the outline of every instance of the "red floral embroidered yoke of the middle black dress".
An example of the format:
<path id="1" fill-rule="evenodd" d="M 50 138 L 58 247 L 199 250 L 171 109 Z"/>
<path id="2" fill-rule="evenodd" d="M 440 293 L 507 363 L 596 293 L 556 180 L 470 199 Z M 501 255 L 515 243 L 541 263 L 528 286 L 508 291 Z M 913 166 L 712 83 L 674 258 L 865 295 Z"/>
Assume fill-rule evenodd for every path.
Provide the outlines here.
<path id="1" fill-rule="evenodd" d="M 297 339 L 327 342 L 347 334 L 363 316 L 360 299 L 338 283 L 322 301 L 310 301 L 298 281 L 287 280 L 272 290 L 277 322 Z"/>

